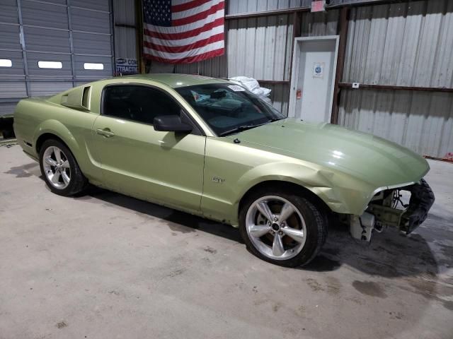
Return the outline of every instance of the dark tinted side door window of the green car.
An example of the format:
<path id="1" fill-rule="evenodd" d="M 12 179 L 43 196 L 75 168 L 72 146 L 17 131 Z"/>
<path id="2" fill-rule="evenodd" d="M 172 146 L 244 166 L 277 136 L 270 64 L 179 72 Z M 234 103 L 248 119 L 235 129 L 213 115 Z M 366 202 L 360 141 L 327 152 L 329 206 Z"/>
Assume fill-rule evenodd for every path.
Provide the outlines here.
<path id="1" fill-rule="evenodd" d="M 104 88 L 102 114 L 153 124 L 160 115 L 180 115 L 180 107 L 161 90 L 142 85 L 112 85 Z"/>

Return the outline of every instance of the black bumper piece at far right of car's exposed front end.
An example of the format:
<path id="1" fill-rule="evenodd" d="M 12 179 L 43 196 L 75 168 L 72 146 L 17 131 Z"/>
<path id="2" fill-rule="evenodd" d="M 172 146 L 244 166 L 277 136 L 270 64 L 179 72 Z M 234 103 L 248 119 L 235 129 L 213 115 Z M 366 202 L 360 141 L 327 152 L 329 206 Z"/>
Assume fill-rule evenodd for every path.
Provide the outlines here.
<path id="1" fill-rule="evenodd" d="M 420 184 L 411 188 L 411 200 L 406 211 L 401 215 L 400 230 L 411 233 L 428 217 L 428 211 L 435 201 L 430 185 L 421 179 Z"/>

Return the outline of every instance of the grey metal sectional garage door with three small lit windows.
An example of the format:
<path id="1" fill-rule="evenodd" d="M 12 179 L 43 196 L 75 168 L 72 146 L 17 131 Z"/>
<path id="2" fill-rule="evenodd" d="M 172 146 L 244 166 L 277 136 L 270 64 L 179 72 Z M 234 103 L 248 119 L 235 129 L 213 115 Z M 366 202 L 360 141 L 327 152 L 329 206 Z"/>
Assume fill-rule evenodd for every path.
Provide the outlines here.
<path id="1" fill-rule="evenodd" d="M 0 1 L 0 116 L 113 75 L 110 0 Z"/>

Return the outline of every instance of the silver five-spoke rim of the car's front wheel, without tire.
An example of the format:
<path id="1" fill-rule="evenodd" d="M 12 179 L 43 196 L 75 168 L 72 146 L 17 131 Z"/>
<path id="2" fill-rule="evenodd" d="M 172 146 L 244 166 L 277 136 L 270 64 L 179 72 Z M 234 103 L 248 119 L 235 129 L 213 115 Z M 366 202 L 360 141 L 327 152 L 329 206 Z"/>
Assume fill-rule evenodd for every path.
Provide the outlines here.
<path id="1" fill-rule="evenodd" d="M 274 260 L 297 256 L 304 248 L 306 226 L 299 210 L 280 196 L 254 201 L 246 215 L 248 238 L 261 254 Z"/>

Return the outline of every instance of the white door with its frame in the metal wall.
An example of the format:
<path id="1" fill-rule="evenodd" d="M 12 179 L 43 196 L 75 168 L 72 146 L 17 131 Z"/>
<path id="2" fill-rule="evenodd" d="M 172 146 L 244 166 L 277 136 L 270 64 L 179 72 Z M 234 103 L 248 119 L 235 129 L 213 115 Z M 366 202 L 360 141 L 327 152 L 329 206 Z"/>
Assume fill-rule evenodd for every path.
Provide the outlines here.
<path id="1" fill-rule="evenodd" d="M 338 35 L 295 39 L 289 117 L 331 122 L 337 53 Z"/>

